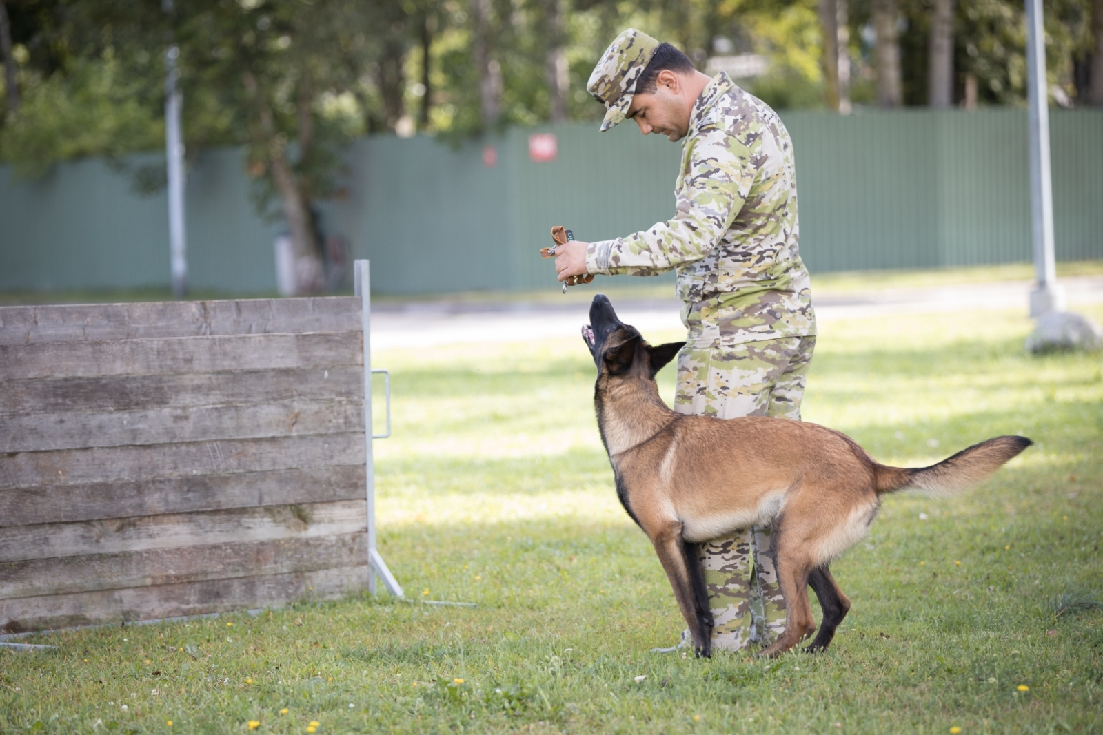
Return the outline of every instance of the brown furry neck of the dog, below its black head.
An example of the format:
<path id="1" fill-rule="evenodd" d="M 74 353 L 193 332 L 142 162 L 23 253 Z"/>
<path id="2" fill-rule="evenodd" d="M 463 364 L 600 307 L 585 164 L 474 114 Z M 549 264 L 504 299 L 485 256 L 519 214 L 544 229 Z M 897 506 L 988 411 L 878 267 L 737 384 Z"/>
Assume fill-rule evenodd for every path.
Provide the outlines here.
<path id="1" fill-rule="evenodd" d="M 593 396 L 598 429 L 610 458 L 630 452 L 677 420 L 658 396 L 654 379 L 632 376 L 629 379 L 599 383 Z"/>

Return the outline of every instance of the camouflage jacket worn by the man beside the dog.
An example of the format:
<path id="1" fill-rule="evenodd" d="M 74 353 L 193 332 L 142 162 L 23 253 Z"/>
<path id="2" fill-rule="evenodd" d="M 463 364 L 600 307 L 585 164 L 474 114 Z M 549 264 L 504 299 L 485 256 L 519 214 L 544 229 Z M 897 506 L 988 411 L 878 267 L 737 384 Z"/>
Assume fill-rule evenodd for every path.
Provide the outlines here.
<path id="1" fill-rule="evenodd" d="M 777 112 L 727 74 L 715 76 L 694 105 L 674 194 L 673 219 L 591 242 L 587 270 L 677 269 L 694 347 L 815 335 L 796 245 L 793 143 Z"/>

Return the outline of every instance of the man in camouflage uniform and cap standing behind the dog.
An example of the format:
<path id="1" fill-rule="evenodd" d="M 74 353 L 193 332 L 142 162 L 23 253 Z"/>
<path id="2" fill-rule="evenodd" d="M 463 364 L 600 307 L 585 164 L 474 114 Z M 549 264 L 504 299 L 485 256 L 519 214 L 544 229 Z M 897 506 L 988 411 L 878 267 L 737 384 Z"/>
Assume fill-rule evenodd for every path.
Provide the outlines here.
<path id="1" fill-rule="evenodd" d="M 644 134 L 683 140 L 675 215 L 628 237 L 560 246 L 559 280 L 675 269 L 688 336 L 674 409 L 800 420 L 816 324 L 785 126 L 726 74 L 709 78 L 634 29 L 606 50 L 587 88 L 607 108 L 602 131 L 632 119 Z M 764 646 L 784 629 L 769 552 L 768 527 L 700 545 L 714 648 Z"/>

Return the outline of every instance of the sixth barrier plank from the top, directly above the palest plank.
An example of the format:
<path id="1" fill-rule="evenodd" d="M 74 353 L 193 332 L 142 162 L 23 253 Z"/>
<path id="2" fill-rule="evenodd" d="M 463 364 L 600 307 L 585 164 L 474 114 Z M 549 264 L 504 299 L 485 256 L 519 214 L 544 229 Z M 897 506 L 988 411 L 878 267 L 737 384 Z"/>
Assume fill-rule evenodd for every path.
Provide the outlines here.
<path id="1" fill-rule="evenodd" d="M 361 440 L 363 441 L 363 440 Z M 2 462 L 2 460 L 0 460 Z M 0 489 L 0 527 L 364 497 L 364 465 Z"/>

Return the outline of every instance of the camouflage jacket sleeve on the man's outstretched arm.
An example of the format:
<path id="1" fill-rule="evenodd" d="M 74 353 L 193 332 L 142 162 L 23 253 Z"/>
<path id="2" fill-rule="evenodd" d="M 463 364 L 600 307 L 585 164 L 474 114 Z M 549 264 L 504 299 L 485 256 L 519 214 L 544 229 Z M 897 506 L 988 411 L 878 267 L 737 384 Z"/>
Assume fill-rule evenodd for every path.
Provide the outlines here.
<path id="1" fill-rule="evenodd" d="M 628 237 L 591 242 L 588 272 L 655 275 L 700 260 L 716 247 L 750 193 L 750 152 L 735 136 L 711 127 L 690 145 L 674 218 Z"/>

